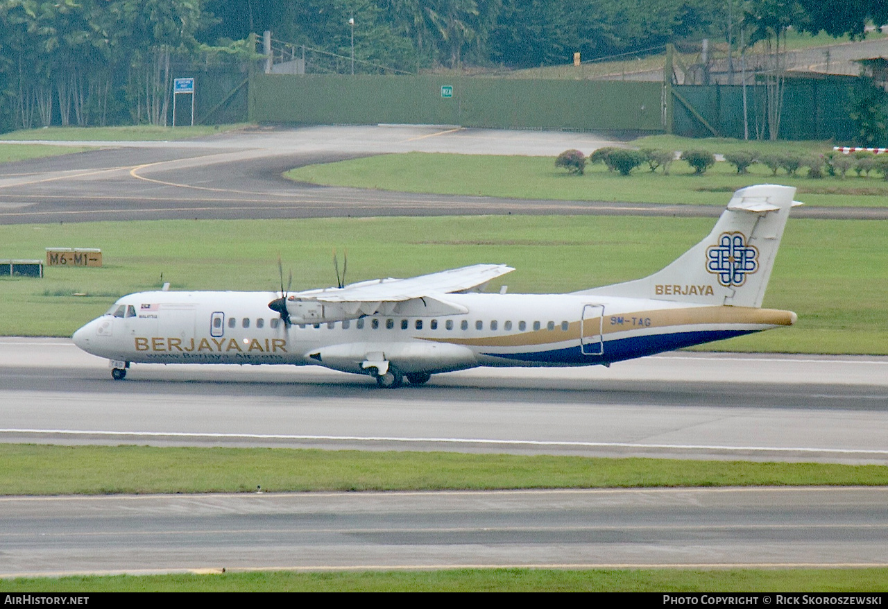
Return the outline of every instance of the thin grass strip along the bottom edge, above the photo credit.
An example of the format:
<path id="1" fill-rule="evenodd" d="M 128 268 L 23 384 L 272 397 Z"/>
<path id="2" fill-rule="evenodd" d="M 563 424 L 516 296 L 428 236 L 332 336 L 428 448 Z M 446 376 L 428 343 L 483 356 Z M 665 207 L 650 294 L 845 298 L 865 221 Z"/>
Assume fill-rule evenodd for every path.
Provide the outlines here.
<path id="1" fill-rule="evenodd" d="M 449 569 L 0 580 L 0 592 L 884 592 L 888 569 Z"/>

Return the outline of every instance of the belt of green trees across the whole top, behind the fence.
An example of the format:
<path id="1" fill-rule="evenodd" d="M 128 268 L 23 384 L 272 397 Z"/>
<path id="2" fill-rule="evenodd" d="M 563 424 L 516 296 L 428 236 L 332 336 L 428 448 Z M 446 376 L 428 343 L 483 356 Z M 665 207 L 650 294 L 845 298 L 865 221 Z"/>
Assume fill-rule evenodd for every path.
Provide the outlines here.
<path id="1" fill-rule="evenodd" d="M 354 28 L 349 25 L 354 18 Z M 780 54 L 791 26 L 862 36 L 884 0 L 0 0 L 0 130 L 49 123 L 163 124 L 171 69 L 245 59 L 251 32 L 363 65 L 536 67 L 710 36 L 773 50 L 772 137 Z M 239 42 L 240 41 L 240 42 Z M 361 69 L 359 67 L 359 69 Z"/>

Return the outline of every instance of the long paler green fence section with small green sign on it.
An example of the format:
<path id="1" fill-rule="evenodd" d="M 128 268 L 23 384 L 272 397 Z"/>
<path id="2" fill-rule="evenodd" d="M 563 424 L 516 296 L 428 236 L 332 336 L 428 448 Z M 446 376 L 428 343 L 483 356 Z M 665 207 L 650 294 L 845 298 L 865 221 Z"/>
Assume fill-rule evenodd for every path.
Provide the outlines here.
<path id="1" fill-rule="evenodd" d="M 662 131 L 660 83 L 255 75 L 250 121 Z"/>

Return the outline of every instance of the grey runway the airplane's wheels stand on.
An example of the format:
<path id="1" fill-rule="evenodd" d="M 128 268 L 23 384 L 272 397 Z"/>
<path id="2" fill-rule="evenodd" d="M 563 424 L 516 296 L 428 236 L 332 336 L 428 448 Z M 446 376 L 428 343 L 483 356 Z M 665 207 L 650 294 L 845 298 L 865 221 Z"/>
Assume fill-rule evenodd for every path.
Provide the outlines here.
<path id="1" fill-rule="evenodd" d="M 381 391 L 316 367 L 137 364 L 0 339 L 0 441 L 888 463 L 888 358 L 670 353 Z M 50 423 L 51 422 L 51 423 Z"/>

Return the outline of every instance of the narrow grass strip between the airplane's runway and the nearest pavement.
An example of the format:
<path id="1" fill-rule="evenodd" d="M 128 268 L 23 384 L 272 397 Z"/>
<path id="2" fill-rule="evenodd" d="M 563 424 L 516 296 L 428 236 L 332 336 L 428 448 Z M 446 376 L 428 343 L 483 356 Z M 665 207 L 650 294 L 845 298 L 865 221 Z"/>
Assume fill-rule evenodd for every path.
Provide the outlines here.
<path id="1" fill-rule="evenodd" d="M 11 495 L 885 484 L 883 465 L 0 444 Z"/>

